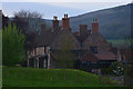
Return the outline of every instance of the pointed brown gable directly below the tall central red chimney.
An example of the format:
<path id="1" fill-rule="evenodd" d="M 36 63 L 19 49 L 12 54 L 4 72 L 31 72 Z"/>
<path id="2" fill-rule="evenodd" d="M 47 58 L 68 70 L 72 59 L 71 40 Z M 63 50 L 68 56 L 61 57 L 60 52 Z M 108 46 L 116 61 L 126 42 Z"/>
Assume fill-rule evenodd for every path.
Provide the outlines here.
<path id="1" fill-rule="evenodd" d="M 65 47 L 66 44 L 71 46 L 71 50 L 80 49 L 80 42 L 75 39 L 71 31 L 69 29 L 61 29 L 57 33 L 50 47 L 53 50 L 54 49 L 60 50 L 62 49 L 62 47 Z"/>

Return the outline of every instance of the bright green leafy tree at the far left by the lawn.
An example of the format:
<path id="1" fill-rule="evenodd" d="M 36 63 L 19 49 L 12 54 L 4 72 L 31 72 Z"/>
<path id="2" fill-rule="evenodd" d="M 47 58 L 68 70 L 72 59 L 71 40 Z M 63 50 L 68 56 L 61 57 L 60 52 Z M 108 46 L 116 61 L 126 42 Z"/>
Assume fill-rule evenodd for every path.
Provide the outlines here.
<path id="1" fill-rule="evenodd" d="M 4 66 L 14 66 L 25 57 L 25 37 L 17 29 L 16 24 L 4 27 L 2 31 L 2 62 Z"/>

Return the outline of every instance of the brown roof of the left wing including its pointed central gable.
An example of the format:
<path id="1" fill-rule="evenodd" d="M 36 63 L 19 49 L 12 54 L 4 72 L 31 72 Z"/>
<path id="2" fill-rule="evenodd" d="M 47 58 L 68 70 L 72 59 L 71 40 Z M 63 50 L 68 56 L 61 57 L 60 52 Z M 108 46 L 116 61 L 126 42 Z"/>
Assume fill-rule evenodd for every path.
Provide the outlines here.
<path id="1" fill-rule="evenodd" d="M 40 34 L 37 34 L 35 44 L 40 46 L 50 46 L 52 49 L 61 49 L 61 42 L 64 41 L 63 37 L 72 40 L 71 48 L 80 49 L 80 42 L 72 34 L 71 29 L 62 29 L 61 27 L 51 30 L 44 30 Z"/>

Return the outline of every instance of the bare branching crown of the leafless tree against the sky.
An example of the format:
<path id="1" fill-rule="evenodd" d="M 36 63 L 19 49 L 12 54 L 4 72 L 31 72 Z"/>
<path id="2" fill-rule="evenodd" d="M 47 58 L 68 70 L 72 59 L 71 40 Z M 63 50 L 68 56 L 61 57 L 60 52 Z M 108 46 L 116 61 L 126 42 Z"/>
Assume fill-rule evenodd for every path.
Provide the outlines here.
<path id="1" fill-rule="evenodd" d="M 39 13 L 38 11 L 20 10 L 18 12 L 14 12 L 14 21 L 22 29 L 31 29 L 38 31 L 41 19 L 42 14 Z M 24 28 L 25 24 L 27 28 Z"/>

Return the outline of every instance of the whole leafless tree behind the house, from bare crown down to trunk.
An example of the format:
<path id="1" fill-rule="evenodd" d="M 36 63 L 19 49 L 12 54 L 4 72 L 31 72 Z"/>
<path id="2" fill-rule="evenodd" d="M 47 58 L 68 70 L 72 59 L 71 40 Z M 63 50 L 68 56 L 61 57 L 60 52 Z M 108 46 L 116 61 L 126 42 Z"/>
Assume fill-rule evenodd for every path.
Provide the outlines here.
<path id="1" fill-rule="evenodd" d="M 37 36 L 35 31 L 40 29 L 41 19 L 42 14 L 38 11 L 20 10 L 18 12 L 14 12 L 13 22 L 25 36 L 25 50 L 30 50 L 34 47 Z"/>

